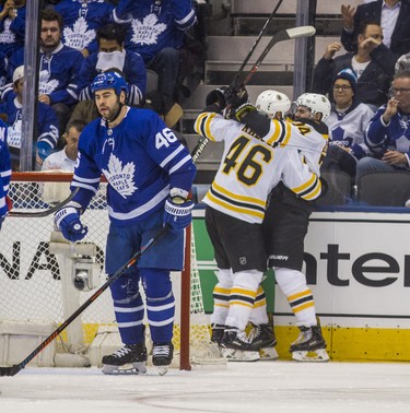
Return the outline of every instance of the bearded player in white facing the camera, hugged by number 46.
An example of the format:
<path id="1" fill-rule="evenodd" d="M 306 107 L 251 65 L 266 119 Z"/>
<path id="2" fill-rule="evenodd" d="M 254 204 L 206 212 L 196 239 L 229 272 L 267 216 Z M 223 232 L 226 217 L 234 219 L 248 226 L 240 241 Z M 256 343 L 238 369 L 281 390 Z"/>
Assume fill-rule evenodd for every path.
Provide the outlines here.
<path id="1" fill-rule="evenodd" d="M 328 141 L 328 130 L 324 121 L 330 114 L 330 103 L 326 96 L 305 93 L 295 102 L 294 111 L 294 120 L 288 123 L 296 127 L 301 134 L 291 134 L 286 144 L 300 148 L 309 169 L 319 175 Z M 255 111 L 247 111 L 242 121 L 251 125 L 263 141 L 270 142 L 272 138 L 269 135 L 274 137 L 272 130 L 276 120 L 267 121 Z M 301 362 L 326 362 L 329 359 L 326 342 L 317 323 L 312 291 L 302 273 L 304 238 L 313 210 L 312 200 L 307 202 L 289 190 L 285 182 L 280 184 L 270 193 L 263 234 L 268 266 L 274 269 L 277 283 L 286 296 L 301 331 L 300 338 L 291 344 L 292 358 Z M 259 318 L 262 317 L 263 311 L 259 315 Z M 261 323 L 260 334 L 269 328 L 270 326 Z"/>

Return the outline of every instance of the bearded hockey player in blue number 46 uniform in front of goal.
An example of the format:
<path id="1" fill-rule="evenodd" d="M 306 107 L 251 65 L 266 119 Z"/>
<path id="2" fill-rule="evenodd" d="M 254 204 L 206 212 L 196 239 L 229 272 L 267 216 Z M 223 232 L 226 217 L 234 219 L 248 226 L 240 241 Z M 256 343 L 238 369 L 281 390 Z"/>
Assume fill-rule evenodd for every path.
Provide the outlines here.
<path id="1" fill-rule="evenodd" d="M 128 86 L 116 72 L 98 74 L 93 84 L 102 118 L 81 133 L 72 201 L 56 213 L 55 222 L 70 241 L 85 237 L 81 213 L 96 193 L 101 175 L 107 181 L 110 220 L 105 268 L 114 274 L 164 225 L 165 236 L 112 286 L 114 309 L 125 346 L 103 357 L 105 374 L 145 373 L 144 307 L 153 341 L 154 366 L 168 366 L 173 357 L 175 300 L 171 270 L 183 268 L 184 228 L 191 222 L 188 199 L 196 167 L 188 151 L 161 118 L 150 109 L 125 105 Z M 132 368 L 125 368 L 131 364 Z"/>

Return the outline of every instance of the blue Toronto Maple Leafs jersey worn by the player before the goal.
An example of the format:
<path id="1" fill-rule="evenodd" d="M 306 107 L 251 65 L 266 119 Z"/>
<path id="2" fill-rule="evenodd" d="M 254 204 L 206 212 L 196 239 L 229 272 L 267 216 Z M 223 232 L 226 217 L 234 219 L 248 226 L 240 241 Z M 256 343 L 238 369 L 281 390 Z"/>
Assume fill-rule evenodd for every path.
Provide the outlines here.
<path id="1" fill-rule="evenodd" d="M 107 178 L 109 219 L 118 226 L 144 220 L 164 208 L 171 188 L 190 191 L 196 167 L 187 149 L 152 110 L 128 108 L 122 121 L 107 128 L 96 119 L 81 133 L 71 190 L 85 210 L 101 175 Z"/>

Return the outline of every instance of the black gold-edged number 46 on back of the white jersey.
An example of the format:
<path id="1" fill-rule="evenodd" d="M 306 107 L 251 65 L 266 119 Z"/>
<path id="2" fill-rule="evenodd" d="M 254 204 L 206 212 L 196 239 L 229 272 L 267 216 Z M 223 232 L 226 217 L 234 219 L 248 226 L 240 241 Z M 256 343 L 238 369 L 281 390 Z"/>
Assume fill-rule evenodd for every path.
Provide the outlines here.
<path id="1" fill-rule="evenodd" d="M 223 172 L 227 175 L 232 170 L 236 172 L 236 177 L 241 182 L 251 186 L 257 182 L 260 175 L 263 173 L 263 166 L 255 160 L 256 155 L 261 154 L 262 161 L 269 163 L 272 158 L 272 152 L 262 145 L 251 146 L 245 158 L 238 162 L 241 153 L 245 150 L 249 142 L 249 138 L 239 137 L 231 146 L 230 152 L 225 156 L 223 163 L 225 164 Z"/>

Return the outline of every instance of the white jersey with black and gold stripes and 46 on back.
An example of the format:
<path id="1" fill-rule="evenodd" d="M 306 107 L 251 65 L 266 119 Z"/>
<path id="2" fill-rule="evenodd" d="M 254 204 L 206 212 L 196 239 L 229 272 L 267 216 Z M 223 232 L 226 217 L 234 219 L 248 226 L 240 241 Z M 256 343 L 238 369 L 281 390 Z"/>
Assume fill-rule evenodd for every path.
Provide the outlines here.
<path id="1" fill-rule="evenodd" d="M 278 129 L 276 142 L 283 142 L 273 148 L 255 138 L 243 123 L 214 113 L 199 115 L 196 132 L 224 142 L 221 165 L 203 202 L 238 220 L 260 224 L 268 194 L 280 180 L 298 197 L 316 199 L 321 191 L 320 179 L 298 150 L 285 144 L 291 133 L 300 132 L 288 122 L 280 127 L 283 129 Z"/>

